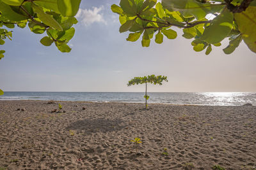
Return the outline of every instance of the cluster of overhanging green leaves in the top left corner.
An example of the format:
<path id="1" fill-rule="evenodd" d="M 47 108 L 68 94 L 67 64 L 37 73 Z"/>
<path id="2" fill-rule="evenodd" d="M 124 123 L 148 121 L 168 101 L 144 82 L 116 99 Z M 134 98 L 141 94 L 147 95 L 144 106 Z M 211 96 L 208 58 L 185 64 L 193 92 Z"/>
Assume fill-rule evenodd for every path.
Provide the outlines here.
<path id="1" fill-rule="evenodd" d="M 5 39 L 12 40 L 12 31 L 28 25 L 35 34 L 47 33 L 40 40 L 45 46 L 54 43 L 61 52 L 70 52 L 68 41 L 74 36 L 77 24 L 74 17 L 79 10 L 81 0 L 0 0 L 0 45 Z M 7 29 L 3 28 L 3 25 Z M 0 59 L 4 57 L 0 50 Z"/>

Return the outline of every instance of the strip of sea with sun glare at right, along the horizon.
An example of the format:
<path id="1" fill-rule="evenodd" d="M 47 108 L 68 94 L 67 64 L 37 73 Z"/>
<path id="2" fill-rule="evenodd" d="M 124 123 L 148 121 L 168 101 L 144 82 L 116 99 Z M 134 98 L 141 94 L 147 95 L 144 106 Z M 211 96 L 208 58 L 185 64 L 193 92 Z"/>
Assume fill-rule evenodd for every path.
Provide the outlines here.
<path id="1" fill-rule="evenodd" d="M 54 100 L 144 103 L 143 92 L 4 92 L 1 100 Z M 256 105 L 255 92 L 149 92 L 148 103 L 209 106 Z"/>

